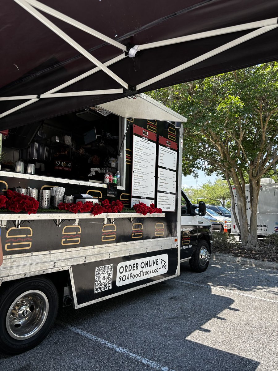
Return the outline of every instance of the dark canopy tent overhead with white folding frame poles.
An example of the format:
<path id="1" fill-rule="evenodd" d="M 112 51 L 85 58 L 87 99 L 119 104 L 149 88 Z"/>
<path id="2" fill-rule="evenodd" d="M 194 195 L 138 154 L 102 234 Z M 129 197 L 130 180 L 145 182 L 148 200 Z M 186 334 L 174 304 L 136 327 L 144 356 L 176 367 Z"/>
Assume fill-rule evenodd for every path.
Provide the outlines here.
<path id="1" fill-rule="evenodd" d="M 277 0 L 6 0 L 0 130 L 278 59 Z"/>

